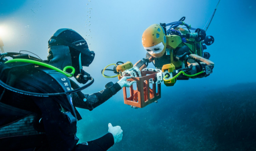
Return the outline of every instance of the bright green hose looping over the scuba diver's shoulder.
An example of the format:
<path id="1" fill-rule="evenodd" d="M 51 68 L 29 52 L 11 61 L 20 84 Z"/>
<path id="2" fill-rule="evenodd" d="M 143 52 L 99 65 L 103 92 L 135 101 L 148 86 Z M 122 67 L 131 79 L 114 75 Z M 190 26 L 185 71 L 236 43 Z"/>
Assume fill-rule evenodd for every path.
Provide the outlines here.
<path id="1" fill-rule="evenodd" d="M 44 67 L 53 69 L 55 71 L 58 71 L 58 72 L 60 72 L 60 73 L 62 73 L 64 75 L 66 75 L 67 77 L 72 77 L 73 74 L 75 73 L 75 68 L 72 67 L 72 66 L 66 66 L 66 67 L 64 67 L 64 69 L 62 71 L 59 68 L 56 68 L 56 67 L 54 67 L 52 65 L 49 65 L 49 64 L 45 64 L 44 62 L 35 61 L 35 60 L 29 60 L 29 59 L 12 59 L 12 60 L 6 61 L 5 63 L 11 63 L 11 62 L 27 62 L 27 63 L 31 63 L 31 64 L 36 64 L 36 65 L 44 66 Z M 67 69 L 71 69 L 72 72 L 71 73 L 66 73 Z"/>

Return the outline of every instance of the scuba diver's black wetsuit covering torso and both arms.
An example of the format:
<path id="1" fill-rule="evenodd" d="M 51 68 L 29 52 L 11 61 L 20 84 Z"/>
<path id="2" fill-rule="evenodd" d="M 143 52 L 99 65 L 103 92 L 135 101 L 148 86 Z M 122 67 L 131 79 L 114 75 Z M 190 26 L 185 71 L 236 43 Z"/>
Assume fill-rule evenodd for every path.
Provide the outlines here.
<path id="1" fill-rule="evenodd" d="M 65 75 L 56 72 L 47 74 L 44 72 L 45 69 L 48 70 L 47 68 L 40 68 L 40 70 L 39 67 L 33 67 L 26 71 L 10 71 L 7 78 L 0 78 L 12 87 L 29 92 L 57 93 L 71 89 L 70 81 Z M 58 81 L 56 77 L 61 79 Z M 60 85 L 61 80 L 64 81 L 66 88 Z M 121 89 L 118 83 L 113 87 L 116 92 Z M 3 87 L 0 87 L 0 92 L 3 90 Z M 92 95 L 85 95 L 94 108 L 111 96 L 113 92 L 109 88 Z M 4 90 L 0 98 L 0 150 L 21 150 L 27 147 L 31 148 L 28 150 L 37 147 L 36 150 L 40 151 L 108 150 L 114 144 L 111 133 L 87 143 L 77 144 L 79 140 L 76 137 L 77 116 L 73 106 L 87 109 L 87 105 L 76 93 L 72 98 L 71 96 L 35 97 Z M 33 124 L 32 127 L 28 126 L 29 122 Z"/>

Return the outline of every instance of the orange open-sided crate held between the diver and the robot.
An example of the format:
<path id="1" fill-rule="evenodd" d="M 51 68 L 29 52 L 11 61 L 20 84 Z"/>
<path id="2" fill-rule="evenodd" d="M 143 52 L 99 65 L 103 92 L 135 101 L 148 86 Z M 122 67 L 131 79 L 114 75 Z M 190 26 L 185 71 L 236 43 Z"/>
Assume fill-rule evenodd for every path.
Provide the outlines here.
<path id="1" fill-rule="evenodd" d="M 134 107 L 143 108 L 161 98 L 161 83 L 153 83 L 152 89 L 149 87 L 149 81 L 156 80 L 156 76 L 157 72 L 141 71 L 141 77 L 127 79 L 127 81 L 137 82 L 137 90 L 134 90 L 133 86 L 131 86 L 130 96 L 127 97 L 126 87 L 123 87 L 124 103 Z"/>

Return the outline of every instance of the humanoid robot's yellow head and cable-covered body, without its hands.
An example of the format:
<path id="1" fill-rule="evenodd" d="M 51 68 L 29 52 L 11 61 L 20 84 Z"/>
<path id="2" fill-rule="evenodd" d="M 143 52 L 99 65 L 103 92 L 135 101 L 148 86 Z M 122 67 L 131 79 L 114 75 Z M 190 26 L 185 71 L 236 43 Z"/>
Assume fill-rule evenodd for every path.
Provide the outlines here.
<path id="1" fill-rule="evenodd" d="M 214 38 L 206 36 L 203 29 L 191 28 L 181 21 L 184 19 L 185 17 L 178 22 L 168 24 L 171 25 L 168 30 L 165 23 L 149 26 L 142 34 L 142 44 L 147 50 L 146 58 L 139 60 L 134 66 L 141 71 L 148 63 L 153 62 L 157 69 L 163 71 L 172 68 L 174 72 L 170 77 L 183 71 L 185 74 L 179 74 L 177 80 L 202 78 L 211 74 L 214 63 L 208 60 L 210 54 L 203 50 L 206 49 L 206 45 L 209 46 L 214 42 Z M 188 31 L 179 28 L 179 25 L 185 25 Z M 194 29 L 195 32 L 190 32 L 190 29 Z M 164 84 L 173 86 L 176 79 L 171 83 L 164 80 Z"/>

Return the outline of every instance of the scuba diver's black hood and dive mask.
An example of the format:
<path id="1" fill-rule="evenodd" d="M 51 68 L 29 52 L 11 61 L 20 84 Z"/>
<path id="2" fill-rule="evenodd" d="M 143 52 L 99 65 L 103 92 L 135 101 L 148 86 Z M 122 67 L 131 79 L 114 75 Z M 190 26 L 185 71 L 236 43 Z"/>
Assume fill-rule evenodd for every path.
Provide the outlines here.
<path id="1" fill-rule="evenodd" d="M 48 48 L 48 53 L 53 55 L 53 59 L 49 63 L 60 69 L 63 69 L 65 66 L 71 66 L 71 58 L 78 58 L 78 56 L 71 56 L 70 49 L 75 51 L 75 54 L 80 54 L 80 68 L 81 66 L 88 67 L 95 56 L 94 52 L 89 50 L 85 39 L 72 29 L 64 28 L 57 30 L 48 41 Z"/>

